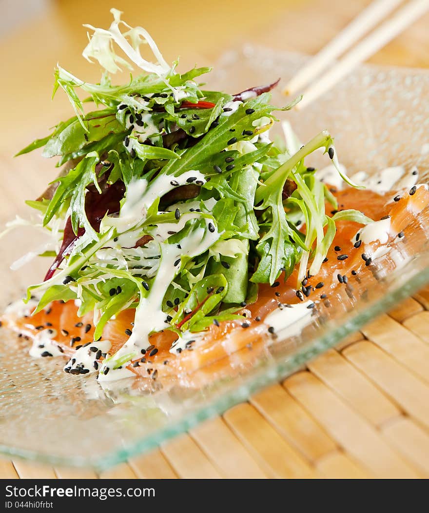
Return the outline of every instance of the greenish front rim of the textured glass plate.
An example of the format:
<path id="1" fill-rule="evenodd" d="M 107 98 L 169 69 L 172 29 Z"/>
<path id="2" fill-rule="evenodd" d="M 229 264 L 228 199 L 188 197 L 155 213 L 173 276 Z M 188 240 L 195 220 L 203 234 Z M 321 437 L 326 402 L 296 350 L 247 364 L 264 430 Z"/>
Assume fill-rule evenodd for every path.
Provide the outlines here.
<path id="1" fill-rule="evenodd" d="M 297 55 L 297 54 L 296 54 Z M 305 57 L 299 54 L 300 57 Z M 375 69 L 401 69 L 414 73 L 427 73 L 425 69 L 393 67 L 393 66 L 369 66 Z M 429 252 L 423 252 L 408 263 L 408 265 L 417 264 L 419 260 L 424 260 Z M 421 266 L 423 267 L 423 266 Z M 94 457 L 91 461 L 83 457 L 69 456 L 67 458 L 47 455 L 34 450 L 22 449 L 14 446 L 0 444 L 0 453 L 13 458 L 22 458 L 25 460 L 37 461 L 39 463 L 51 464 L 54 466 L 75 466 L 75 467 L 92 467 L 95 470 L 103 471 L 114 465 L 122 463 L 131 457 L 135 457 L 140 453 L 144 453 L 159 446 L 168 439 L 186 432 L 201 421 L 208 420 L 216 415 L 221 415 L 229 408 L 247 401 L 252 393 L 278 383 L 282 379 L 287 378 L 290 374 L 297 371 L 303 364 L 313 360 L 322 352 L 335 347 L 344 337 L 358 330 L 367 322 L 373 320 L 377 315 L 386 312 L 401 300 L 410 296 L 421 287 L 429 283 L 429 266 L 425 266 L 418 273 L 413 275 L 407 283 L 399 285 L 393 290 L 387 292 L 382 298 L 375 303 L 370 302 L 368 305 L 354 314 L 349 313 L 348 321 L 339 326 L 334 326 L 330 331 L 316 336 L 308 345 L 296 352 L 284 362 L 273 362 L 268 367 L 256 371 L 248 378 L 244 378 L 244 382 L 236 389 L 229 390 L 221 394 L 221 396 L 213 400 L 209 405 L 196 408 L 194 411 L 187 413 L 186 417 L 171 422 L 170 425 L 160 428 L 158 431 L 145 436 L 140 440 L 134 441 L 128 445 L 113 449 L 110 453 L 104 453 L 100 457 Z"/>

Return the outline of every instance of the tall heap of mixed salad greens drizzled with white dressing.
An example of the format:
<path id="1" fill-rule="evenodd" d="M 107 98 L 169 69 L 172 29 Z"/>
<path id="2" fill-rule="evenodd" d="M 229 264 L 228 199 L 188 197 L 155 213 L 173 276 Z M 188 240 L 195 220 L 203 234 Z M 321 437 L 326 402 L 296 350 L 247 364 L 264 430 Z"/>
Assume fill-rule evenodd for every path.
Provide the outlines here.
<path id="1" fill-rule="evenodd" d="M 271 105 L 276 83 L 238 94 L 207 90 L 200 77 L 210 68 L 178 73 L 145 29 L 112 13 L 109 29 L 87 26 L 93 33 L 83 55 L 104 68 L 100 82 L 57 67 L 54 93 L 63 89 L 74 116 L 19 154 L 43 147 L 62 166 L 28 202 L 55 243 L 45 253 L 54 259 L 46 278 L 28 298 L 39 298 L 36 311 L 77 300 L 79 315 L 94 312 L 95 340 L 109 319 L 134 308 L 133 331 L 113 357 L 121 365 L 155 331 L 240 319 L 259 284 L 287 279 L 296 265 L 299 280 L 316 274 L 335 222 L 362 214 L 326 215 L 325 201 L 337 209 L 336 200 L 304 164 L 323 148 L 341 174 L 327 132 L 302 147 L 270 142 L 276 112 L 295 103 Z M 141 56 L 142 43 L 155 64 Z M 112 73 L 132 66 L 144 74 L 112 85 Z"/>

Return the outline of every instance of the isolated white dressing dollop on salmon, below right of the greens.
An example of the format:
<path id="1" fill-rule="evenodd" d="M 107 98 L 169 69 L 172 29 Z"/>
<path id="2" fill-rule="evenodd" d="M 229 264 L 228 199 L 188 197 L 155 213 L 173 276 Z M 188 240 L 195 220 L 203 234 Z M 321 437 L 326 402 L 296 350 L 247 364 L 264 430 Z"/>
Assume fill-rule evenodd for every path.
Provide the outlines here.
<path id="1" fill-rule="evenodd" d="M 314 301 L 305 301 L 285 308 L 276 308 L 264 319 L 264 323 L 272 326 L 274 332 L 281 337 L 294 337 L 310 324 L 313 308 L 308 308 Z"/>

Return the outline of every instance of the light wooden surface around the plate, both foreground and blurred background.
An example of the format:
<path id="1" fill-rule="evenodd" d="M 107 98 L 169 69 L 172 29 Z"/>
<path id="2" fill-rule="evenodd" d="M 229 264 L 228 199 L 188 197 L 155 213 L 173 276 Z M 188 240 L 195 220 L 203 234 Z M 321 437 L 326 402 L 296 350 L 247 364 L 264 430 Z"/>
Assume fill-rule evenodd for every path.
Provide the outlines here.
<path id="1" fill-rule="evenodd" d="M 243 41 L 314 53 L 367 4 L 115 2 L 126 21 L 151 32 L 167 61 L 181 56 L 180 69 L 212 65 Z M 86 44 L 81 24 L 107 26 L 106 6 L 101 0 L 51 2 L 46 13 L 0 39 L 0 224 L 24 215 L 23 201 L 55 175 L 53 163 L 37 155 L 12 155 L 71 115 L 64 95 L 50 100 L 57 62 L 77 76 L 99 78 L 98 67 L 80 55 Z M 161 18 L 161 9 L 171 15 Z M 425 16 L 370 62 L 429 67 L 428 23 Z M 19 240 L 16 246 L 19 255 Z M 7 299 L 28 276 L 8 271 L 4 255 L 0 264 Z M 284 383 L 103 475 L 4 459 L 0 478 L 428 477 L 429 330 L 422 329 L 429 328 L 428 307 L 425 289 Z"/>

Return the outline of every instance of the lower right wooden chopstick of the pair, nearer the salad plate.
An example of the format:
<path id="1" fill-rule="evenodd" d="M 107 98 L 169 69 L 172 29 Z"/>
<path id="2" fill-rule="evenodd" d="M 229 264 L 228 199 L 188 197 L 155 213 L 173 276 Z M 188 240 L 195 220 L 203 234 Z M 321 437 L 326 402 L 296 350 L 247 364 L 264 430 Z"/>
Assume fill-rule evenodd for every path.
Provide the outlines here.
<path id="1" fill-rule="evenodd" d="M 304 91 L 303 98 L 295 109 L 302 110 L 312 103 L 321 94 L 328 91 L 355 66 L 365 61 L 380 48 L 409 27 L 429 10 L 429 0 L 412 0 L 399 9 L 390 19 L 381 24 L 373 33 L 354 47 L 349 53 L 338 61 L 335 66 L 323 74 L 317 81 Z"/>

